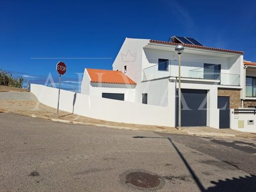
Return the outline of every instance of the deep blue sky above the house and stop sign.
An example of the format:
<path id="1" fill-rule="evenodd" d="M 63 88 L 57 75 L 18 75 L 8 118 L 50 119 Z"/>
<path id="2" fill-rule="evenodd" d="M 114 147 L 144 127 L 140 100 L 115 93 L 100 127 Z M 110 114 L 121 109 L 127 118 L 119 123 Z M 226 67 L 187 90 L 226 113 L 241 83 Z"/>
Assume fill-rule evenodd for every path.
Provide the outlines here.
<path id="1" fill-rule="evenodd" d="M 85 67 L 112 69 L 126 37 L 172 35 L 245 51 L 256 62 L 256 1 L 0 0 L 0 68 L 34 82 L 43 83 L 49 72 L 58 78 L 60 60 L 70 82 Z"/>

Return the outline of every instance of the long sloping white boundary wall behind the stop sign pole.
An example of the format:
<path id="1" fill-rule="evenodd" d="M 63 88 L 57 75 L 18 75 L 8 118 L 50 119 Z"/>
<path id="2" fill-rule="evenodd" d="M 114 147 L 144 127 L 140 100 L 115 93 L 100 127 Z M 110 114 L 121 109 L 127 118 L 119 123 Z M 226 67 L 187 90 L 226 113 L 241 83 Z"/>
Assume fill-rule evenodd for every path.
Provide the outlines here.
<path id="1" fill-rule="evenodd" d="M 50 107 L 57 108 L 58 89 L 31 84 L 31 92 Z M 156 126 L 173 126 L 168 107 L 99 98 L 61 90 L 60 110 L 90 118 Z"/>

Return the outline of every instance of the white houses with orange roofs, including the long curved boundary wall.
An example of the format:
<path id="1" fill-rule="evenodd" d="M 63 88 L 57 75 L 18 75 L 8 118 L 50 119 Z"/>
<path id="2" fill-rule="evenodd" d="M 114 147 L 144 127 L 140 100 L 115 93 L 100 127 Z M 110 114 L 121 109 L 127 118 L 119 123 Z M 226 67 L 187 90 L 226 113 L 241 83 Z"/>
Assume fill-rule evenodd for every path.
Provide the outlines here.
<path id="1" fill-rule="evenodd" d="M 203 46 L 190 37 L 171 41 L 126 38 L 113 70 L 84 71 L 81 94 L 61 90 L 60 109 L 106 121 L 177 126 L 178 54 L 182 126 L 256 132 L 256 63 L 242 51 Z M 43 104 L 57 108 L 58 90 L 32 85 Z"/>

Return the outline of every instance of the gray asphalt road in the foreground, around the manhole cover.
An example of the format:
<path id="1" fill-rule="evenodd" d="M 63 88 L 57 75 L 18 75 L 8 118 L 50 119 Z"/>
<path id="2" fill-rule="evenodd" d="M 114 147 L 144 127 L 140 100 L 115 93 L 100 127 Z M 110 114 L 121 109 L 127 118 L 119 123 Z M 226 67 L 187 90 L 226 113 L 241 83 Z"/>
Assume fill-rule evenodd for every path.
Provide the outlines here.
<path id="1" fill-rule="evenodd" d="M 1 192 L 255 192 L 256 141 L 99 128 L 0 113 Z M 141 189 L 130 172 L 157 175 Z"/>

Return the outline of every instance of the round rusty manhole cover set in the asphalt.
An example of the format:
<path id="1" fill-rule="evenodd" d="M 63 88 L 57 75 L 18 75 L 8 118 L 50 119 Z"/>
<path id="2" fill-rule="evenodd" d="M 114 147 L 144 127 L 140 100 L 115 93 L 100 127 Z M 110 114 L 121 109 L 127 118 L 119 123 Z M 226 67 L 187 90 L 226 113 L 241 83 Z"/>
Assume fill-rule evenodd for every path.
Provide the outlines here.
<path id="1" fill-rule="evenodd" d="M 131 172 L 126 176 L 127 183 L 141 188 L 155 188 L 159 186 L 160 180 L 157 175 L 143 172 Z"/>

